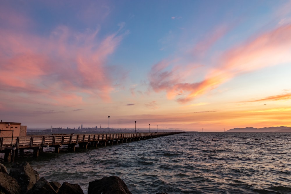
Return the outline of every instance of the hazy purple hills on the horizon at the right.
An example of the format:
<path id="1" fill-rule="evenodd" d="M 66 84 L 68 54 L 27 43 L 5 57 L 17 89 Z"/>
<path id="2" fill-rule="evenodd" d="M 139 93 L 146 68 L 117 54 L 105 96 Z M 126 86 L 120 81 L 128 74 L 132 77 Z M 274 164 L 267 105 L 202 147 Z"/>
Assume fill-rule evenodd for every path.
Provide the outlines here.
<path id="1" fill-rule="evenodd" d="M 264 128 L 254 128 L 254 127 L 246 127 L 246 128 L 234 128 L 229 129 L 225 132 L 291 132 L 291 127 L 264 127 Z"/>

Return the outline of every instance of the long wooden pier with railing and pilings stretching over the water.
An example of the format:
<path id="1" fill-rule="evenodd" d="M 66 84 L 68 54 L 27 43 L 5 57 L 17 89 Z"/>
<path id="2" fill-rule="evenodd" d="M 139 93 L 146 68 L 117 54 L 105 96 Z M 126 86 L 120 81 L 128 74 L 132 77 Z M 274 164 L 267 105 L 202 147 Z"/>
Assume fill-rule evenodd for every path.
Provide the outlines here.
<path id="1" fill-rule="evenodd" d="M 23 153 L 24 149 L 33 149 L 33 156 L 38 157 L 39 152 L 43 152 L 43 147 L 55 147 L 55 152 L 60 153 L 60 147 L 67 145 L 68 149 L 74 152 L 76 145 L 79 145 L 79 148 L 87 149 L 88 145 L 92 147 L 107 146 L 180 133 L 184 132 L 0 137 L 0 152 L 4 152 L 4 162 L 14 162 L 19 152 Z"/>

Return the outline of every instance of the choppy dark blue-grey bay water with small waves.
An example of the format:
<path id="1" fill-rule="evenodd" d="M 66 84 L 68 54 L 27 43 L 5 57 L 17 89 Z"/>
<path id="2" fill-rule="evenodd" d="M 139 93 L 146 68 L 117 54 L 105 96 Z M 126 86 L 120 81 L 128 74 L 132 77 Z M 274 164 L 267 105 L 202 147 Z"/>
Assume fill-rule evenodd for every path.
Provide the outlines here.
<path id="1" fill-rule="evenodd" d="M 26 161 L 40 177 L 84 193 L 111 175 L 133 194 L 291 193 L 290 152 L 290 133 L 183 133 Z"/>

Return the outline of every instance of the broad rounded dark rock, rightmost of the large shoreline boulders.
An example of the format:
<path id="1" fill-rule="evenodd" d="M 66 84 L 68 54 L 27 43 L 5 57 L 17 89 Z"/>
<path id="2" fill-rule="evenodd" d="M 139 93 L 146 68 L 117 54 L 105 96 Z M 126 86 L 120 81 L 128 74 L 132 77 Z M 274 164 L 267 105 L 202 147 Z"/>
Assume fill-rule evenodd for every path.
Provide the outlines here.
<path id="1" fill-rule="evenodd" d="M 119 177 L 110 176 L 89 182 L 88 194 L 132 194 Z"/>

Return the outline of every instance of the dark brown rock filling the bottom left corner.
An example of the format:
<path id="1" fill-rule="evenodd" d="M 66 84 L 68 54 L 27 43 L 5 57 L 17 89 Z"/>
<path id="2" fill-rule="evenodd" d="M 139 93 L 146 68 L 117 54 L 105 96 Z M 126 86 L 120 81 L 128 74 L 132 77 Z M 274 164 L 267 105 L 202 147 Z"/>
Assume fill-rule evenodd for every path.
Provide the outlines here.
<path id="1" fill-rule="evenodd" d="M 16 179 L 5 172 L 0 172 L 0 191 L 5 194 L 20 194 L 21 188 Z"/>

